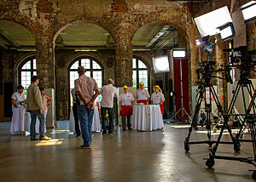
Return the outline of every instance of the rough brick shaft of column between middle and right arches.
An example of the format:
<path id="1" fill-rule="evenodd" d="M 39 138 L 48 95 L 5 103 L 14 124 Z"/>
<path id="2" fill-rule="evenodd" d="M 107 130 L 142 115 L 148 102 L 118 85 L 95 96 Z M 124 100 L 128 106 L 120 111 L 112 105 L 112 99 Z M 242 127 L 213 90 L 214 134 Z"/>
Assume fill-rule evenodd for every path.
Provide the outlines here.
<path id="1" fill-rule="evenodd" d="M 122 32 L 115 43 L 115 85 L 132 87 L 132 43 L 127 31 Z"/>

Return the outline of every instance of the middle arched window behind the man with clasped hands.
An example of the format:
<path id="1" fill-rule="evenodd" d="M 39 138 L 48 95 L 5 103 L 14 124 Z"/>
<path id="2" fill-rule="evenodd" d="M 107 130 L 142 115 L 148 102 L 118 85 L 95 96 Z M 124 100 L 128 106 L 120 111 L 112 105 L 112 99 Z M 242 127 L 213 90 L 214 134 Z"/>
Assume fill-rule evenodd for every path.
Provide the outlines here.
<path id="1" fill-rule="evenodd" d="M 102 88 L 102 81 L 103 81 L 103 66 L 101 65 L 99 60 L 96 60 L 90 56 L 82 56 L 78 59 L 73 60 L 70 64 L 68 72 L 69 72 L 69 89 L 74 88 L 74 81 L 79 78 L 78 68 L 80 65 L 83 65 L 86 69 L 85 75 L 87 77 L 93 77 L 99 89 Z M 101 101 L 102 97 L 99 95 L 99 100 Z M 70 97 L 70 105 L 73 106 L 73 98 Z"/>

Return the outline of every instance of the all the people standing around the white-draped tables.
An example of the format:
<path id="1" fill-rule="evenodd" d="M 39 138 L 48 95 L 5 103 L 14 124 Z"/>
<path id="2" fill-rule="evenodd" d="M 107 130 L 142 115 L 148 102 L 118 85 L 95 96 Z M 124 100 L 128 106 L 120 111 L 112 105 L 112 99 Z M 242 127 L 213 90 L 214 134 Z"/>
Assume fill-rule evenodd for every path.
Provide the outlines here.
<path id="1" fill-rule="evenodd" d="M 79 66 L 79 78 L 75 80 L 75 88 L 72 90 L 73 96 L 73 115 L 75 118 L 75 130 L 77 136 L 82 133 L 84 144 L 82 148 L 90 149 L 91 144 L 91 129 L 95 105 L 99 108 L 97 97 L 102 94 L 101 101 L 101 116 L 102 116 L 102 134 L 113 134 L 113 98 L 117 97 L 117 88 L 113 86 L 113 79 L 108 79 L 107 85 L 104 85 L 99 91 L 96 80 L 92 77 L 85 76 L 86 70 L 83 66 Z M 23 87 L 19 86 L 17 92 L 12 96 L 13 107 L 19 107 L 22 102 L 26 101 L 26 111 L 31 114 L 31 140 L 38 140 L 35 133 L 35 124 L 38 120 L 39 124 L 39 139 L 49 140 L 50 138 L 44 135 L 44 124 L 47 113 L 47 105 L 52 101 L 48 95 L 44 94 L 44 88 L 38 88 L 39 77 L 32 76 L 32 84 L 27 88 L 27 95 L 23 94 Z M 129 93 L 128 87 L 125 85 L 124 93 L 119 95 L 119 115 L 122 117 L 122 127 L 125 130 L 126 126 L 131 130 L 131 115 L 135 99 L 137 103 L 148 105 L 160 105 L 160 111 L 164 112 L 165 97 L 162 94 L 158 85 L 154 86 L 154 93 L 148 94 L 148 90 L 144 88 L 144 83 L 139 83 L 140 88 L 137 89 L 136 95 Z M 108 114 L 108 128 L 106 114 Z M 127 119 L 127 124 L 126 124 Z M 80 125 L 80 126 L 79 126 Z M 81 131 L 80 131 L 81 128 Z"/>

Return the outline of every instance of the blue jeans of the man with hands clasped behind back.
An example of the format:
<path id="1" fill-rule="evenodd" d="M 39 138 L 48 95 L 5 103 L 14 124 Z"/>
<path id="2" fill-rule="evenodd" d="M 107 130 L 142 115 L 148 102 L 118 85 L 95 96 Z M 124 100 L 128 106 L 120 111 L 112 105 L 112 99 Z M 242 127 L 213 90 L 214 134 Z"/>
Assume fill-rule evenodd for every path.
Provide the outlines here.
<path id="1" fill-rule="evenodd" d="M 86 105 L 78 105 L 79 122 L 84 139 L 84 145 L 91 143 L 91 125 L 93 121 L 94 109 L 88 109 Z"/>

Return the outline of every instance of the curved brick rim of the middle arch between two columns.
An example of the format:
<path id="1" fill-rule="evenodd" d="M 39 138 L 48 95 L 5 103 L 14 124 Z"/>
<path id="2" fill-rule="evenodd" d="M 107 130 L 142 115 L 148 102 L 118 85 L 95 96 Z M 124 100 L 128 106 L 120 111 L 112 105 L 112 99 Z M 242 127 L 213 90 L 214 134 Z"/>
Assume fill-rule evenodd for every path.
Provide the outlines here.
<path id="1" fill-rule="evenodd" d="M 93 20 L 74 20 L 74 21 L 67 22 L 67 24 L 65 26 L 57 26 L 57 30 L 55 31 L 54 38 L 53 38 L 54 45 L 55 45 L 55 39 L 58 37 L 58 35 L 61 33 L 61 31 L 65 30 L 68 26 L 73 26 L 73 25 L 79 24 L 79 23 L 88 23 L 88 24 L 99 26 L 103 30 L 107 31 L 109 33 L 109 35 L 111 35 L 114 43 L 116 42 L 111 29 L 109 29 L 108 26 L 102 26 L 102 25 L 104 25 L 103 23 L 93 21 Z M 106 25 L 108 25 L 108 24 L 106 24 Z"/>

